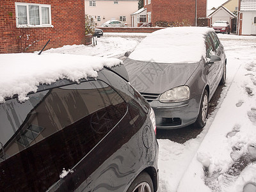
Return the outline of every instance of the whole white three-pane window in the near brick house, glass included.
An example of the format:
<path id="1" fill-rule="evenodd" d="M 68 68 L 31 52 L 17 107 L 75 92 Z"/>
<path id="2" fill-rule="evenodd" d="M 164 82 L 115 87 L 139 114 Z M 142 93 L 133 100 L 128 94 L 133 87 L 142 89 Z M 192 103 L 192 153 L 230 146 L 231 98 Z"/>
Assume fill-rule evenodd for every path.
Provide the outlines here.
<path id="1" fill-rule="evenodd" d="M 16 26 L 51 27 L 51 5 L 33 3 L 15 3 Z"/>

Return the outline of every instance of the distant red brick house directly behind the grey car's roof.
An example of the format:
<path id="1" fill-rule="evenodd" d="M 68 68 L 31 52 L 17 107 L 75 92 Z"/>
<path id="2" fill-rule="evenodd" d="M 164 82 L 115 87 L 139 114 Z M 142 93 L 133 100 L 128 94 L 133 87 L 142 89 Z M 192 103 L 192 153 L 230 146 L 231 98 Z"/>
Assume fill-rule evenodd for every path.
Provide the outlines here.
<path id="1" fill-rule="evenodd" d="M 147 9 L 147 22 L 153 26 L 157 21 L 182 22 L 192 26 L 196 25 L 196 19 L 206 18 L 207 0 L 144 0 L 144 8 Z"/>

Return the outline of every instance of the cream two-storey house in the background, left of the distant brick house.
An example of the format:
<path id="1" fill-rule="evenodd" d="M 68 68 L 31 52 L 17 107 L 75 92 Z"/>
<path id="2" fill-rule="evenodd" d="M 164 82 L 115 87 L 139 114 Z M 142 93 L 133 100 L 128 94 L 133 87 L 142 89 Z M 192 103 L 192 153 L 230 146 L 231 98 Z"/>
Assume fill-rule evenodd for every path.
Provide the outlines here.
<path id="1" fill-rule="evenodd" d="M 85 13 L 90 15 L 96 26 L 108 20 L 120 20 L 132 26 L 131 14 L 138 10 L 138 0 L 84 0 Z"/>

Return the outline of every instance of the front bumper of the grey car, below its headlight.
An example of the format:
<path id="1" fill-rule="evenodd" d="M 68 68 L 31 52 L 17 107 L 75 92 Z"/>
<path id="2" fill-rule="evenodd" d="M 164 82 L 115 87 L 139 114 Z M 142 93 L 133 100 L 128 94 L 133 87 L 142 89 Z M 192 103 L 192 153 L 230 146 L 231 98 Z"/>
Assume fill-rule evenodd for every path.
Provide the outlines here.
<path id="1" fill-rule="evenodd" d="M 163 103 L 152 100 L 150 106 L 156 115 L 157 129 L 177 129 L 195 123 L 199 113 L 201 96 L 184 102 Z"/>

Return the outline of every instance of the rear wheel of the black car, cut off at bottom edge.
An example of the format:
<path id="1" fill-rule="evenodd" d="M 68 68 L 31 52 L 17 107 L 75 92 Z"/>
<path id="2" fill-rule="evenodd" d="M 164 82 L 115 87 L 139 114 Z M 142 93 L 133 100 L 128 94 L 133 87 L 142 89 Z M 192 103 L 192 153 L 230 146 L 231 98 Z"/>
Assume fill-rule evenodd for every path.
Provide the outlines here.
<path id="1" fill-rule="evenodd" d="M 129 186 L 127 192 L 154 192 L 153 182 L 147 172 L 142 172 L 138 175 L 131 186 Z"/>

